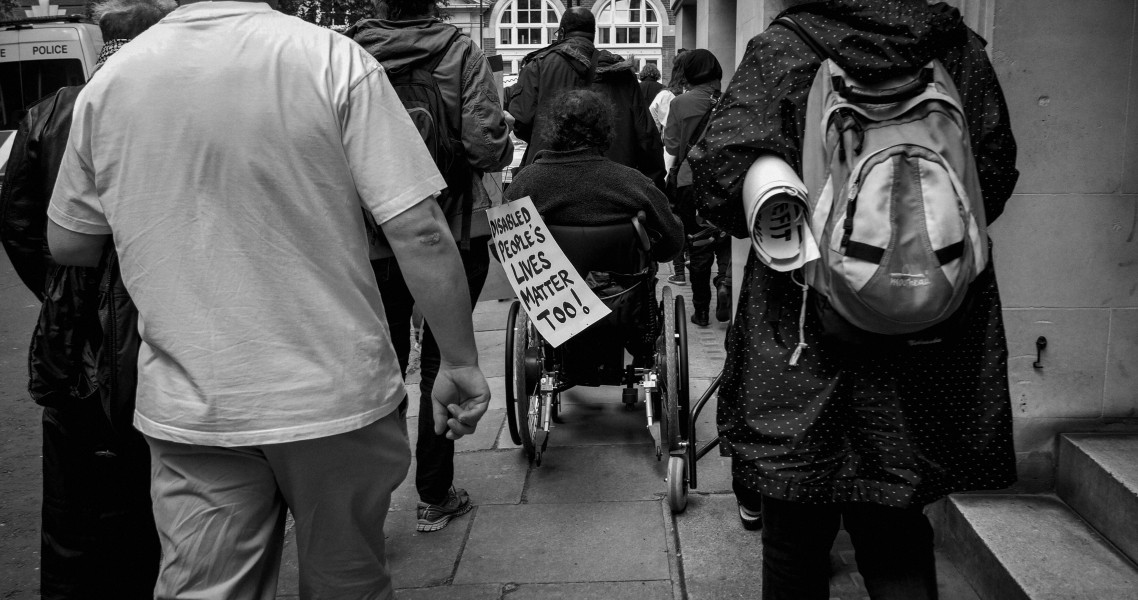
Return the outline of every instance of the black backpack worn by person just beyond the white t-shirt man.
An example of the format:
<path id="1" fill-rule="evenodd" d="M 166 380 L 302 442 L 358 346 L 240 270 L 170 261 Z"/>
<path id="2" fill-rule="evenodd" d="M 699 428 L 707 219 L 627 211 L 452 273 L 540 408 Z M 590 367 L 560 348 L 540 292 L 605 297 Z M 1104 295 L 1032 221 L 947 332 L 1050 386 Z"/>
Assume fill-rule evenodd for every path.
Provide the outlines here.
<path id="1" fill-rule="evenodd" d="M 394 68 L 384 65 L 384 68 L 391 87 L 395 88 L 395 93 L 407 110 L 411 122 L 415 124 L 423 143 L 427 145 L 431 158 L 435 159 L 435 165 L 443 174 L 443 179 L 446 180 L 446 189 L 438 197 L 443 214 L 450 219 L 460 214 L 461 211 L 461 236 L 455 241 L 459 243 L 460 248 L 469 249 L 470 216 L 473 209 L 470 184 L 473 173 L 467 163 L 462 140 L 453 135 L 446 105 L 443 102 L 443 92 L 438 89 L 438 81 L 435 79 L 435 71 L 438 69 L 439 63 L 451 51 L 451 47 L 454 46 L 460 35 L 462 32 L 455 28 L 451 38 L 435 55 Z M 380 63 L 382 64 L 384 60 L 380 59 Z M 377 231 L 376 233 L 382 239 L 381 232 Z M 386 241 L 382 245 L 386 246 Z"/>

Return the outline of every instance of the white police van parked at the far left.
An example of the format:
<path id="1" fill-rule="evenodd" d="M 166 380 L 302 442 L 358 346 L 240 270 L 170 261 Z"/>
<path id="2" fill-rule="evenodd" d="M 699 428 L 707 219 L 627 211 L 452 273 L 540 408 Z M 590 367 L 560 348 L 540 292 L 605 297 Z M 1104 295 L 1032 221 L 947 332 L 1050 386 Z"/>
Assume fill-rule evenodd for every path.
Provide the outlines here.
<path id="1" fill-rule="evenodd" d="M 91 77 L 99 26 L 79 15 L 0 20 L 0 181 L 27 107 Z"/>

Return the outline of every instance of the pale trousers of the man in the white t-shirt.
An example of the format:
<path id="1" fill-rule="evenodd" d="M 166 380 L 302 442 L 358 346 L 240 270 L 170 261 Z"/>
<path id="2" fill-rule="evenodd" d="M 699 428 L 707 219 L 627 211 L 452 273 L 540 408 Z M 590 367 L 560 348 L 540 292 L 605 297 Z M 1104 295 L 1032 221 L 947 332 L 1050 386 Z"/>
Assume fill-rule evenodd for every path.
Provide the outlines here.
<path id="1" fill-rule="evenodd" d="M 296 520 L 302 599 L 394 598 L 384 520 L 411 462 L 399 411 L 303 442 L 147 443 L 163 553 L 156 599 L 272 600 L 286 509 Z"/>

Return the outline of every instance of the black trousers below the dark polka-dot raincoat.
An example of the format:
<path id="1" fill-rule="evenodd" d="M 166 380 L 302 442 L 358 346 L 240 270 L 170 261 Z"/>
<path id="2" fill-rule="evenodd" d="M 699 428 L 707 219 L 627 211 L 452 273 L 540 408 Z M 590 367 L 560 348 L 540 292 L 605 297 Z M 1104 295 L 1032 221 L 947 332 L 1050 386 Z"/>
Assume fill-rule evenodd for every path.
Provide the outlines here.
<path id="1" fill-rule="evenodd" d="M 830 598 L 830 550 L 844 523 L 874 600 L 935 600 L 937 561 L 920 508 L 762 499 L 762 600 Z"/>

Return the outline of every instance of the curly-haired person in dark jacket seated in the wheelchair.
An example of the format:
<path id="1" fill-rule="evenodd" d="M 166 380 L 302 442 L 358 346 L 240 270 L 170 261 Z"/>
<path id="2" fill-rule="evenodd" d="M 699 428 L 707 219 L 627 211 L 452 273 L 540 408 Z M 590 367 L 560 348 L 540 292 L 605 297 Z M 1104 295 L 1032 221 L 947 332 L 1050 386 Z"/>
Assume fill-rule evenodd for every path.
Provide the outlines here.
<path id="1" fill-rule="evenodd" d="M 644 214 L 643 227 L 651 243 L 651 261 L 644 277 L 648 293 L 641 295 L 648 310 L 634 310 L 636 323 L 625 338 L 634 363 L 648 364 L 657 335 L 655 262 L 668 262 L 683 247 L 684 228 L 671 213 L 668 197 L 640 171 L 604 157 L 612 142 L 613 112 L 609 102 L 589 90 L 561 93 L 546 109 L 539 132 L 550 146 L 522 169 L 505 191 L 506 200 L 529 196 L 549 225 L 613 225 Z M 572 260 L 572 256 L 570 256 Z M 575 263 L 576 265 L 576 263 Z M 578 270 L 580 270 L 580 265 Z M 633 273 L 629 273 L 633 274 Z M 603 299 L 621 282 L 601 273 L 582 272 Z"/>

